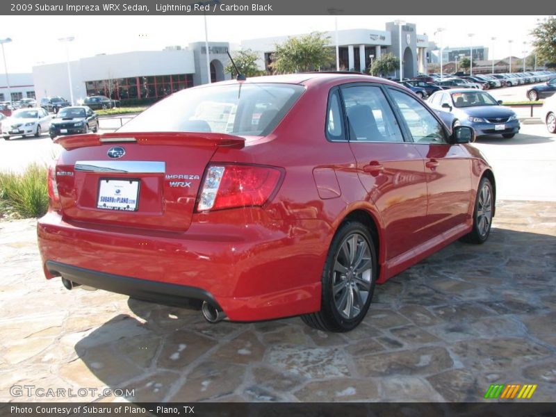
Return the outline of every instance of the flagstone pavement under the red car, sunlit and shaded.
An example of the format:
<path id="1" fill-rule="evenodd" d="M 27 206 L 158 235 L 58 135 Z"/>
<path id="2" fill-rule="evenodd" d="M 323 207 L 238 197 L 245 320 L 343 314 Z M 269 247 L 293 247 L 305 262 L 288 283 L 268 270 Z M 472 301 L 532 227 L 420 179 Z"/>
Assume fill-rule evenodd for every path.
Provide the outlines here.
<path id="1" fill-rule="evenodd" d="M 42 275 L 35 220 L 0 222 L 0 401 L 115 400 L 10 395 L 28 384 L 138 402 L 480 401 L 494 383 L 554 400 L 556 204 L 499 202 L 494 227 L 377 286 L 359 328 L 327 334 L 66 291 Z"/>

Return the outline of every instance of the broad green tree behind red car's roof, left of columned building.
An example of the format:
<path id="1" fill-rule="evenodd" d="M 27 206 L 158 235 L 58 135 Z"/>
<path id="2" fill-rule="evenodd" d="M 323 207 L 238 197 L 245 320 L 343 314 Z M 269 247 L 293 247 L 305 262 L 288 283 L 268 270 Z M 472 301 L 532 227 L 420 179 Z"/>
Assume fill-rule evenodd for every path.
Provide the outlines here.
<path id="1" fill-rule="evenodd" d="M 325 38 L 320 32 L 288 38 L 285 42 L 275 45 L 270 68 L 273 72 L 286 74 L 331 67 L 334 62 L 334 49 L 327 44 L 329 38 Z"/>

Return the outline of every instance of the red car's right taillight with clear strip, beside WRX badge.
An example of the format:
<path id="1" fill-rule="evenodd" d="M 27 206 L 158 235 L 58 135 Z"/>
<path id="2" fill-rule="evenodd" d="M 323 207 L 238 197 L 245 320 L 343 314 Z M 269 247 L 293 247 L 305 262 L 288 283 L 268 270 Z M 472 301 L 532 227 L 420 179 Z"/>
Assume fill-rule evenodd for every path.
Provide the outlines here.
<path id="1" fill-rule="evenodd" d="M 210 165 L 197 202 L 197 211 L 262 206 L 277 190 L 278 168 L 259 165 Z"/>

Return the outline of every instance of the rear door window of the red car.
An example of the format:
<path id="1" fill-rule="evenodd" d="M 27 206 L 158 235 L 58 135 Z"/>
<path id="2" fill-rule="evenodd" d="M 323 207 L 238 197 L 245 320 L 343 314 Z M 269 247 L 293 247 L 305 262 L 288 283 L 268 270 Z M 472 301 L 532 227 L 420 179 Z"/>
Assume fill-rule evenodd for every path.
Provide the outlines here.
<path id="1" fill-rule="evenodd" d="M 350 140 L 403 142 L 400 126 L 379 87 L 343 88 L 342 95 Z"/>

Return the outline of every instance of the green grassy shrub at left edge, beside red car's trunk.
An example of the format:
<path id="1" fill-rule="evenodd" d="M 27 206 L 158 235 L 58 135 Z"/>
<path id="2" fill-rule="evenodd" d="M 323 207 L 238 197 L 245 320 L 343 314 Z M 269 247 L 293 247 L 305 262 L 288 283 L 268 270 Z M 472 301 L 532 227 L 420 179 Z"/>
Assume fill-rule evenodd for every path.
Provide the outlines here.
<path id="1" fill-rule="evenodd" d="M 33 163 L 22 173 L 0 172 L 0 210 L 37 218 L 48 209 L 47 166 Z"/>

